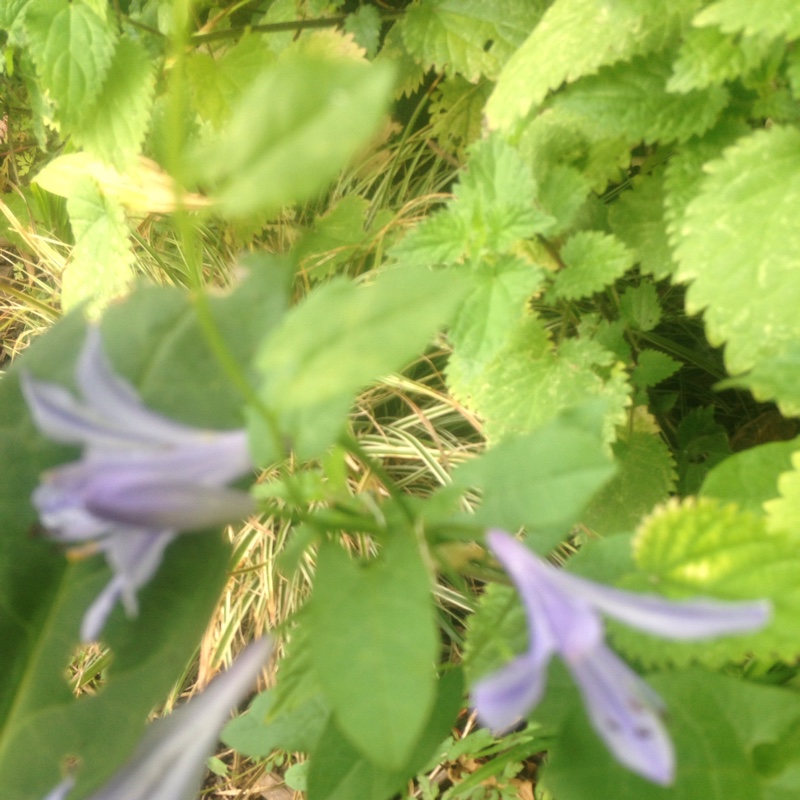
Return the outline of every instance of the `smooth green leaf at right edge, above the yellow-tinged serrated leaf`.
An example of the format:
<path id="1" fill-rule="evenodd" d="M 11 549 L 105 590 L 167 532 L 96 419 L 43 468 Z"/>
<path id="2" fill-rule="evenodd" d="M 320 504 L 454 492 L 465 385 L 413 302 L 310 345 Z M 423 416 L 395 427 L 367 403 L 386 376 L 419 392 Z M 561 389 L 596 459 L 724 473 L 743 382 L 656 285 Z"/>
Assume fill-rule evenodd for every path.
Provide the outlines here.
<path id="1" fill-rule="evenodd" d="M 792 468 L 792 454 L 798 448 L 800 441 L 794 439 L 735 453 L 708 473 L 700 495 L 738 503 L 761 516 L 766 501 L 778 496 L 778 478 Z"/>

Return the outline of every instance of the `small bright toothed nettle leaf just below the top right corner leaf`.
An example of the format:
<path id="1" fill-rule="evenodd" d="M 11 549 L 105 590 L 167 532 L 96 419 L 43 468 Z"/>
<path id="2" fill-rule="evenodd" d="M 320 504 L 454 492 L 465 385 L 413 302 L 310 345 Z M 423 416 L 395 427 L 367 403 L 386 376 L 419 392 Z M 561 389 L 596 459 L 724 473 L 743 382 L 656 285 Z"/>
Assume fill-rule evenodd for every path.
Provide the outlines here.
<path id="1" fill-rule="evenodd" d="M 690 28 L 667 82 L 670 92 L 690 92 L 746 75 L 770 55 L 768 37 L 734 37 L 718 28 Z"/>

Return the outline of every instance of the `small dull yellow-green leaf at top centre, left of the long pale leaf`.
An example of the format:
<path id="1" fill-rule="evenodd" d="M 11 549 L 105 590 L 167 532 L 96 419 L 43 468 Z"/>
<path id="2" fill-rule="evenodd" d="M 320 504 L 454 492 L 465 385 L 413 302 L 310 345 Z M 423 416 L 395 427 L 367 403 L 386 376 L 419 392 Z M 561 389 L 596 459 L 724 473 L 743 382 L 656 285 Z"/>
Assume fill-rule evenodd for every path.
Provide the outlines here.
<path id="1" fill-rule="evenodd" d="M 460 154 L 480 138 L 483 107 L 491 87 L 489 81 L 472 84 L 460 75 L 450 75 L 440 81 L 428 110 L 431 133 L 442 147 Z"/>

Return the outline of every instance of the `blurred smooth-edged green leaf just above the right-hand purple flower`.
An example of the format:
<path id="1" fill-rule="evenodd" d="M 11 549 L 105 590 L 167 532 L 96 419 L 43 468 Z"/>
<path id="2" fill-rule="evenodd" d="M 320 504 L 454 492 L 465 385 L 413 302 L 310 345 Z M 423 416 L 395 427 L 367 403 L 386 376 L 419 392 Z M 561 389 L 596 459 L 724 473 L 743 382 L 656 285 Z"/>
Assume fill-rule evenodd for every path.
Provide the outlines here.
<path id="1" fill-rule="evenodd" d="M 470 519 L 509 531 L 525 526 L 539 552 L 554 547 L 614 474 L 600 436 L 602 412 L 602 404 L 587 409 L 591 427 L 581 418 L 564 415 L 458 467 L 454 484 L 482 491 L 481 504 Z"/>

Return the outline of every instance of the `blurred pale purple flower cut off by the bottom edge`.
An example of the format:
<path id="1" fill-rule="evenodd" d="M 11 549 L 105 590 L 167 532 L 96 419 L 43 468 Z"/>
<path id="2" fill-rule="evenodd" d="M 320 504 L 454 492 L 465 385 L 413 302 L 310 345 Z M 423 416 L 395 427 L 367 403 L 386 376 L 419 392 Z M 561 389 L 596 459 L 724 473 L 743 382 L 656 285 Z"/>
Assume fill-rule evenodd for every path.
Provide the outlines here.
<path id="1" fill-rule="evenodd" d="M 192 800 L 202 785 L 206 759 L 231 709 L 253 686 L 272 643 L 259 639 L 231 668 L 185 706 L 147 729 L 130 760 L 86 800 Z M 45 800 L 65 800 L 74 778 L 62 781 Z"/>

